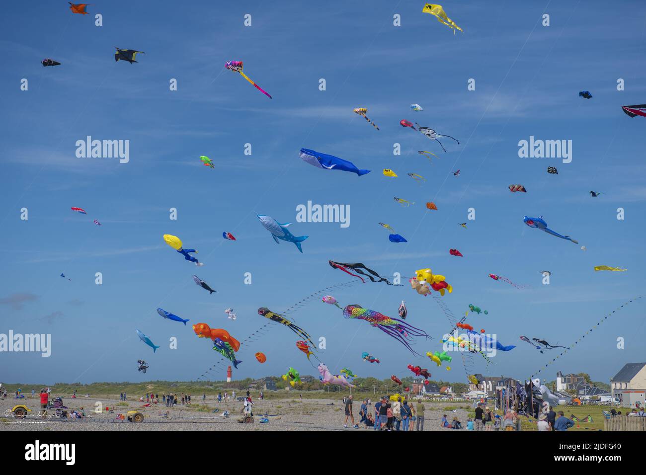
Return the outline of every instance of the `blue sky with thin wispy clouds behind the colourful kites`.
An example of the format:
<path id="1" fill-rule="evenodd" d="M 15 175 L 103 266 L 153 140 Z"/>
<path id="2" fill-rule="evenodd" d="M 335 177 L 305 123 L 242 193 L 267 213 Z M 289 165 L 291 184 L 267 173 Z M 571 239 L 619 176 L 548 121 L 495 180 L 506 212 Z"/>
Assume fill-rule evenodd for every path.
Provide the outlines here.
<path id="1" fill-rule="evenodd" d="M 470 303 L 481 306 L 488 315 L 468 322 L 517 345 L 489 368 L 475 359 L 477 372 L 517 378 L 548 360 L 519 335 L 567 346 L 640 295 L 646 121 L 630 119 L 621 105 L 646 102 L 646 6 L 618 1 L 607 14 L 600 1 L 452 1 L 444 9 L 464 29 L 454 36 L 422 14 L 423 2 L 393 5 L 109 2 L 89 6 L 87 16 L 72 15 L 66 2 L 6 6 L 0 20 L 0 333 L 51 333 L 53 341 L 49 358 L 0 354 L 3 381 L 196 379 L 219 359 L 190 324 L 206 322 L 243 340 L 267 322 L 258 307 L 280 312 L 352 279 L 331 269 L 329 259 L 364 262 L 389 277 L 427 267 L 445 275 L 454 291 L 443 299 L 455 315 Z M 550 26 L 541 25 L 544 12 Z M 94 26 L 96 13 L 103 26 Z M 252 26 L 244 26 L 245 14 Z M 401 26 L 393 26 L 393 14 L 401 15 Z M 134 65 L 115 63 L 115 46 L 147 54 Z M 62 65 L 43 68 L 43 58 Z M 244 61 L 245 73 L 273 100 L 224 70 L 229 59 Z M 22 78 L 27 91 L 20 90 Z M 169 90 L 171 78 L 177 91 Z M 320 78 L 325 91 L 318 90 Z M 474 91 L 467 90 L 470 78 Z M 584 89 L 592 100 L 578 97 Z M 411 103 L 424 111 L 410 111 Z M 355 107 L 367 107 L 380 131 L 353 114 Z M 458 138 L 460 145 L 444 139 L 443 153 L 402 128 L 402 119 Z M 572 162 L 519 158 L 519 140 L 532 135 L 572 140 Z M 76 158 L 76 140 L 86 136 L 129 140 L 130 162 Z M 401 156 L 393 155 L 393 143 L 401 144 Z M 301 147 L 372 172 L 358 177 L 316 169 L 300 160 Z M 440 158 L 431 163 L 418 150 Z M 203 154 L 214 169 L 202 166 Z M 559 174 L 547 174 L 548 165 Z M 384 168 L 399 178 L 386 178 Z M 457 169 L 461 175 L 454 177 Z M 406 173 L 426 182 L 419 185 Z M 528 193 L 510 193 L 510 184 L 523 184 Z M 607 194 L 591 198 L 590 190 Z M 415 206 L 403 208 L 393 196 Z M 293 222 L 296 206 L 307 200 L 348 204 L 350 226 L 295 222 L 293 234 L 309 235 L 304 253 L 291 243 L 276 245 L 256 214 Z M 428 201 L 439 209 L 426 211 Z M 88 215 L 73 213 L 72 206 Z M 169 220 L 171 207 L 177 220 Z M 476 218 L 463 229 L 458 223 L 467 221 L 469 207 Z M 618 207 L 625 220 L 617 220 Z M 543 215 L 587 251 L 526 227 L 525 215 Z M 103 226 L 94 226 L 94 218 Z M 389 242 L 379 222 L 408 243 Z M 238 240 L 223 240 L 222 231 Z M 205 266 L 184 261 L 164 244 L 165 233 L 198 249 Z M 449 255 L 450 248 L 464 257 Z M 599 264 L 629 270 L 595 273 Z M 539 273 L 545 269 L 552 272 L 548 286 Z M 94 284 L 96 272 L 102 285 Z M 244 284 L 245 272 L 253 284 Z M 193 273 L 218 293 L 198 288 Z M 488 273 L 532 288 L 516 290 Z M 450 329 L 446 317 L 431 297 L 404 284 L 368 282 L 333 295 L 391 316 L 405 300 L 407 321 L 435 337 L 415 349 L 439 350 Z M 623 364 L 644 361 L 640 305 L 586 337 L 550 366 L 548 379 L 561 370 L 607 381 Z M 158 307 L 190 319 L 189 326 L 161 319 Z M 236 321 L 226 319 L 227 307 Z M 347 366 L 360 376 L 403 377 L 412 374 L 406 365 L 413 363 L 430 368 L 433 379 L 464 381 L 459 363 L 451 372 L 435 369 L 366 322 L 343 319 L 333 306 L 313 301 L 292 317 L 315 340 L 326 338 L 320 358 L 333 372 Z M 135 328 L 162 348 L 152 354 Z M 293 333 L 268 328 L 242 346 L 244 363 L 234 378 L 283 374 L 289 366 L 315 372 L 295 348 Z M 168 345 L 173 336 L 176 350 Z M 616 348 L 618 337 L 625 338 L 623 350 Z M 255 361 L 257 351 L 267 363 Z M 363 351 L 382 363 L 365 363 Z M 136 372 L 140 358 L 151 364 L 146 375 Z M 224 379 L 224 371 L 217 376 Z"/>

